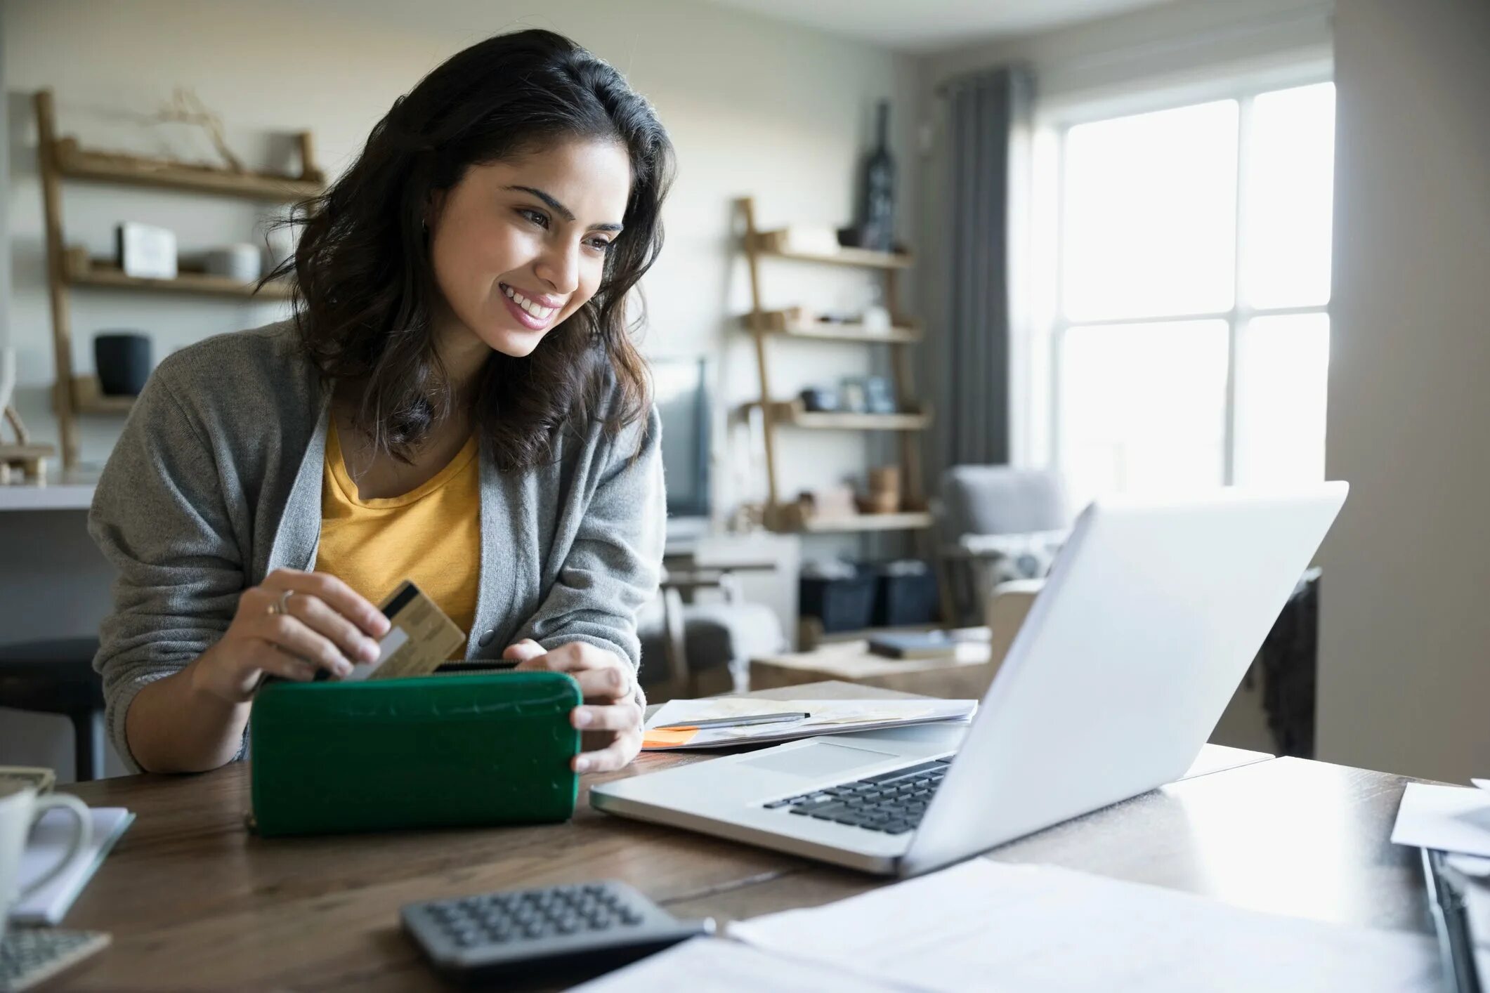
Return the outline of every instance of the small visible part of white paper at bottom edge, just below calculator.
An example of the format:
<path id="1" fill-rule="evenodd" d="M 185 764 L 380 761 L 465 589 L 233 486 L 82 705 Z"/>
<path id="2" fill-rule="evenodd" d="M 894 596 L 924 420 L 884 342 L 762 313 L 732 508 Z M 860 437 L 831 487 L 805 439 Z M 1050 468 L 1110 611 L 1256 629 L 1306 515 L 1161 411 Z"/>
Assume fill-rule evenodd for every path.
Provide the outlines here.
<path id="1" fill-rule="evenodd" d="M 897 993 L 906 987 L 846 977 L 836 969 L 769 956 L 720 938 L 694 938 L 584 986 L 584 993 Z"/>

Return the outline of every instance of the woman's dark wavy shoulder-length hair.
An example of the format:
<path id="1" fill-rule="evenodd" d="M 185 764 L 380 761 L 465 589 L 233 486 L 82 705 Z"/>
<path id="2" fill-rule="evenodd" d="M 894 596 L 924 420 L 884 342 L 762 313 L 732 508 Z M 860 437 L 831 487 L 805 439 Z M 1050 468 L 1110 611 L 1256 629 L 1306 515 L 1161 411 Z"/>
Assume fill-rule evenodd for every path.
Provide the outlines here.
<path id="1" fill-rule="evenodd" d="M 662 250 L 672 182 L 668 132 L 618 71 L 553 31 L 499 34 L 459 52 L 393 101 L 358 161 L 325 194 L 297 204 L 289 277 L 301 345 L 325 381 L 365 386 L 353 424 L 377 450 L 408 462 L 451 412 L 431 317 L 440 302 L 425 232 L 435 191 L 472 165 L 566 138 L 614 140 L 632 165 L 624 229 L 599 289 L 524 359 L 493 351 L 472 420 L 504 472 L 548 460 L 562 430 L 605 415 L 612 435 L 651 406 L 647 363 L 627 326 L 627 295 Z"/>

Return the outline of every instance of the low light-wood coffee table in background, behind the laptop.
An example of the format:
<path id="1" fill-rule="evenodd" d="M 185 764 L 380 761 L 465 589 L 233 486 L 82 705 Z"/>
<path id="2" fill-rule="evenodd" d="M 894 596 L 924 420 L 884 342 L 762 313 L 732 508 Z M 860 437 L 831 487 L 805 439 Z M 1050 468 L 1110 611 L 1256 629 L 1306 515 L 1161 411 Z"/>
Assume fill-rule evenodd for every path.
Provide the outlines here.
<path id="1" fill-rule="evenodd" d="M 982 700 L 998 665 L 989 664 L 988 642 L 963 642 L 952 658 L 885 658 L 869 642 L 834 642 L 811 652 L 767 655 L 749 661 L 751 689 L 779 689 L 824 680 L 940 697 Z"/>

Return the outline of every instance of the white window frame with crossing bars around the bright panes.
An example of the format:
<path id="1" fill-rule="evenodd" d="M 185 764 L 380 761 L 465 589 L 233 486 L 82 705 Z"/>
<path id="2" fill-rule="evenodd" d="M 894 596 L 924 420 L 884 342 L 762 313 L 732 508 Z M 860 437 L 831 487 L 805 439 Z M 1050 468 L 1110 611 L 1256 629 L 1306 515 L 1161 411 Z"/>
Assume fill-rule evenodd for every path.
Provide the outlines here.
<path id="1" fill-rule="evenodd" d="M 1042 101 L 1036 107 L 1030 135 L 1030 182 L 1024 191 L 1030 211 L 1016 246 L 1027 259 L 1031 287 L 1025 313 L 1016 314 L 1010 339 L 1010 463 L 1024 467 L 1061 464 L 1061 347 L 1073 328 L 1155 325 L 1220 320 L 1226 325 L 1226 397 L 1222 439 L 1222 485 L 1234 485 L 1240 439 L 1238 403 L 1246 402 L 1247 384 L 1241 359 L 1247 328 L 1258 317 L 1331 314 L 1332 299 L 1308 307 L 1250 307 L 1246 304 L 1243 247 L 1249 241 L 1247 155 L 1252 147 L 1252 113 L 1258 95 L 1334 82 L 1334 64 L 1319 58 L 1271 66 L 1250 73 L 1229 73 L 1179 83 L 1134 83 L 1103 94 Z M 1061 280 L 1065 269 L 1065 141 L 1071 128 L 1129 115 L 1173 110 L 1219 100 L 1237 101 L 1237 225 L 1234 234 L 1232 305 L 1223 311 L 1131 316 L 1104 320 L 1070 320 L 1061 311 Z M 1019 191 L 1015 191 L 1018 195 Z M 1334 295 L 1331 295 L 1332 298 Z M 1334 323 L 1331 323 L 1334 328 Z"/>

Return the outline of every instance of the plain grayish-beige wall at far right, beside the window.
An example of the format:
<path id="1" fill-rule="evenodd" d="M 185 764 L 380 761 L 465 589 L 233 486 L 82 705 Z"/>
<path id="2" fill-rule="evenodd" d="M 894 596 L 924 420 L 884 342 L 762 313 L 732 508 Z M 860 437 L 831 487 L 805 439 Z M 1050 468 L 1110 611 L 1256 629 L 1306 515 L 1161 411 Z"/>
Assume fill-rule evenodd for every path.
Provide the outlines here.
<path id="1" fill-rule="evenodd" d="M 1338 0 L 1320 758 L 1490 770 L 1490 4 Z"/>

